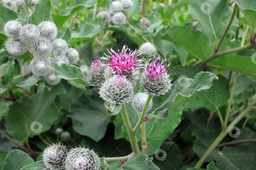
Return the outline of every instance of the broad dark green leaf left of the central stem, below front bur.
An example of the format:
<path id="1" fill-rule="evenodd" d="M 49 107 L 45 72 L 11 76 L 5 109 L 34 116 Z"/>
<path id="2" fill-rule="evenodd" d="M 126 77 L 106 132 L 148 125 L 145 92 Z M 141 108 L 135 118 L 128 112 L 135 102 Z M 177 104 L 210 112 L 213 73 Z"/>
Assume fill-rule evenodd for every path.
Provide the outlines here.
<path id="1" fill-rule="evenodd" d="M 98 93 L 90 97 L 82 94 L 72 103 L 68 116 L 72 118 L 72 126 L 76 132 L 96 142 L 105 136 L 111 118 Z"/>

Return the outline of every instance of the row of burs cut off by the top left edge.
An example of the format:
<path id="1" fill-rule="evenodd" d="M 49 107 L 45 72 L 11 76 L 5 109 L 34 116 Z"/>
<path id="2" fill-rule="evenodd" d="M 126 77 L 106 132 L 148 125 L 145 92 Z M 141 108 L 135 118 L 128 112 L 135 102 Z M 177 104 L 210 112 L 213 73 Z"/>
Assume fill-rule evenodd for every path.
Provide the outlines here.
<path id="1" fill-rule="evenodd" d="M 26 0 L 28 4 L 36 4 L 39 0 Z M 7 8 L 23 8 L 26 5 L 25 0 L 3 0 L 3 5 Z"/>

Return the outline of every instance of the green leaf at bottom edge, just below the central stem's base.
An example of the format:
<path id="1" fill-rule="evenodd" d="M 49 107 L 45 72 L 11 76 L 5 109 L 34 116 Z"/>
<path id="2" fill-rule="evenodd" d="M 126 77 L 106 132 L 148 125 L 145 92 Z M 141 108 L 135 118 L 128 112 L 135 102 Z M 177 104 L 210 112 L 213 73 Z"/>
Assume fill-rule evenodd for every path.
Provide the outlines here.
<path id="1" fill-rule="evenodd" d="M 140 154 L 135 156 L 125 162 L 123 165 L 123 170 L 160 170 L 153 162 L 153 158 L 145 154 Z"/>

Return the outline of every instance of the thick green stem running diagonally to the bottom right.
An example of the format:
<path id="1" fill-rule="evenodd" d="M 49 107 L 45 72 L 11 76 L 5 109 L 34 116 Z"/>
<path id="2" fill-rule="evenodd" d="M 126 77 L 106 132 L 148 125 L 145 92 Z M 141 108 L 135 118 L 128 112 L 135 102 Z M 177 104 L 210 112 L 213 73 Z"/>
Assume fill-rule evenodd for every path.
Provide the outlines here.
<path id="1" fill-rule="evenodd" d="M 201 167 L 201 165 L 204 163 L 204 161 L 207 159 L 207 157 L 212 153 L 212 151 L 216 148 L 216 146 L 222 141 L 222 139 L 228 134 L 229 132 L 229 128 L 232 126 L 235 126 L 244 116 L 245 114 L 247 114 L 250 110 L 251 107 L 256 103 L 256 99 L 254 99 L 250 105 L 244 109 L 241 114 L 239 114 L 235 120 L 233 120 L 229 126 L 227 127 L 227 129 L 222 130 L 222 132 L 219 134 L 219 136 L 215 139 L 215 141 L 210 145 L 210 147 L 206 150 L 206 152 L 204 153 L 204 155 L 199 159 L 199 161 L 197 162 L 197 164 L 195 165 L 196 168 Z"/>

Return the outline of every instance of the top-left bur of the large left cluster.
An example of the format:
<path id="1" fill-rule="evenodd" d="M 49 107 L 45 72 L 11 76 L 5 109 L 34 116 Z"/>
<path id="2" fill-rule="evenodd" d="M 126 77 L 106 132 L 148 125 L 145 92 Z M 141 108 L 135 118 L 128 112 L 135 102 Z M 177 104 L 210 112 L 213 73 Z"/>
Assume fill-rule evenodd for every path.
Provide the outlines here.
<path id="1" fill-rule="evenodd" d="M 4 25 L 4 32 L 6 36 L 11 38 L 18 38 L 21 31 L 21 23 L 16 20 L 8 21 Z"/>

